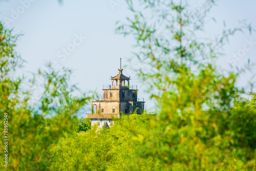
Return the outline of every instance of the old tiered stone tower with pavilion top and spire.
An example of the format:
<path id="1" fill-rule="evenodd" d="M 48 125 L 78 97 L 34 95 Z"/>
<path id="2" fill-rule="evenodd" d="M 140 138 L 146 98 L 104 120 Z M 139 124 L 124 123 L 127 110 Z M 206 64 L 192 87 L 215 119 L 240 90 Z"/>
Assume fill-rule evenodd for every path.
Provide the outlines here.
<path id="1" fill-rule="evenodd" d="M 92 113 L 86 114 L 91 119 L 92 125 L 108 127 L 113 124 L 112 118 L 119 118 L 122 114 L 137 113 L 144 111 L 144 98 L 138 98 L 137 86 L 130 85 L 130 77 L 123 75 L 121 69 L 119 74 L 111 77 L 111 85 L 103 85 L 103 97 L 92 101 Z"/>

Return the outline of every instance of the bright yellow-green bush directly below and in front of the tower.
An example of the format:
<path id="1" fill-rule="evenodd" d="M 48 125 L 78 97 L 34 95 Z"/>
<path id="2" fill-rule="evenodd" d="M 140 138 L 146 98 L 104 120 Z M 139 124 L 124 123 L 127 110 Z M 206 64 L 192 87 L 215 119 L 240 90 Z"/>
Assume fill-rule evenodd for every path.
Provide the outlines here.
<path id="1" fill-rule="evenodd" d="M 152 157 L 141 160 L 136 153 L 143 147 L 141 137 L 151 133 L 155 120 L 146 113 L 124 115 L 110 129 L 94 126 L 87 132 L 66 134 L 49 148 L 50 169 L 126 170 L 136 164 L 143 170 L 160 170 Z"/>

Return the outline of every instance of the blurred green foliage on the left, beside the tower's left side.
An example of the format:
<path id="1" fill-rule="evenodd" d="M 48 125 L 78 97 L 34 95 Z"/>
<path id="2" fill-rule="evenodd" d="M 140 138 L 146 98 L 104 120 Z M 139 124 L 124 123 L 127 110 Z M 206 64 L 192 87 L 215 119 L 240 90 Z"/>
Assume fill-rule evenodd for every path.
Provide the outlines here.
<path id="1" fill-rule="evenodd" d="M 49 66 L 47 71 L 40 71 L 43 78 L 43 93 L 40 97 L 40 109 L 35 110 L 30 104 L 31 89 L 37 82 L 35 76 L 29 90 L 24 90 L 24 78 L 15 77 L 15 71 L 21 67 L 22 59 L 15 52 L 17 35 L 4 28 L 0 22 L 0 125 L 4 127 L 4 113 L 8 113 L 8 169 L 9 170 L 45 170 L 42 156 L 47 147 L 67 132 L 67 127 L 77 123 L 73 115 L 90 97 L 72 97 L 74 87 L 68 84 L 71 74 L 68 70 L 54 71 Z M 51 124 L 45 126 L 46 115 L 52 116 Z M 73 121 L 73 122 L 72 122 Z M 0 143 L 3 144 L 3 137 Z M 4 154 L 3 145 L 0 155 Z M 4 169 L 2 163 L 0 166 Z"/>

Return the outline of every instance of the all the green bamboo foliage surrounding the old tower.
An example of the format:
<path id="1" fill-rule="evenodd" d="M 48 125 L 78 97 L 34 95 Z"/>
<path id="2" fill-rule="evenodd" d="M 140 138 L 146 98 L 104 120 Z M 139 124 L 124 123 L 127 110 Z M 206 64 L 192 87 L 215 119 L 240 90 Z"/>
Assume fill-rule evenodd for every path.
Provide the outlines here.
<path id="1" fill-rule="evenodd" d="M 224 30 L 217 42 L 205 42 L 197 35 L 215 1 L 197 13 L 181 2 L 140 1 L 144 10 L 138 11 L 127 1 L 134 18 L 117 32 L 135 37 L 136 55 L 147 66 L 139 75 L 160 111 L 122 116 L 102 130 L 74 115 L 91 94 L 72 96 L 71 71 L 49 65 L 30 82 L 14 76 L 22 64 L 18 36 L 0 23 L 0 125 L 8 113 L 8 169 L 255 170 L 256 94 L 240 97 L 239 73 L 223 75 L 215 65 L 228 36 L 251 28 Z M 145 16 L 148 11 L 153 16 Z M 43 86 L 34 89 L 38 77 Z M 35 110 L 33 90 L 41 89 Z"/>

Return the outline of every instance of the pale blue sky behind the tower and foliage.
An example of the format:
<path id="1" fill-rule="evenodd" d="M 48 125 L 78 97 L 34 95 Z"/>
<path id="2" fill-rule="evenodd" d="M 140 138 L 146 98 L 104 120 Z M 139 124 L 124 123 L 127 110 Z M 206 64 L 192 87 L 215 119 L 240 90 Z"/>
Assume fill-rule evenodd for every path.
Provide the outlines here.
<path id="1" fill-rule="evenodd" d="M 110 2 L 116 2 L 118 6 L 111 7 Z M 146 98 L 146 109 L 151 109 L 153 103 L 148 100 L 144 93 L 142 83 L 132 70 L 141 67 L 137 62 L 128 62 L 132 57 L 134 40 L 132 37 L 123 37 L 115 34 L 117 20 L 125 20 L 131 15 L 124 1 L 120 0 L 95 0 L 95 1 L 64 1 L 59 5 L 57 0 L 23 0 L 1 1 L 0 20 L 14 18 L 9 21 L 9 28 L 14 27 L 15 33 L 24 33 L 18 40 L 17 51 L 27 61 L 24 72 L 35 72 L 44 66 L 45 61 L 55 61 L 58 65 L 74 70 L 73 83 L 82 90 L 97 90 L 102 95 L 102 84 L 110 84 L 110 76 L 118 74 L 119 58 L 127 65 L 123 73 L 131 76 L 131 84 L 138 84 L 138 97 Z M 31 2 L 23 11 L 22 2 Z M 120 3 L 119 3 L 120 2 Z M 193 1 L 194 5 L 200 1 Z M 25 6 L 26 6 L 25 5 Z M 20 10 L 19 16 L 15 12 Z M 214 35 L 222 30 L 223 20 L 227 27 L 238 25 L 238 21 L 247 19 L 252 26 L 256 26 L 256 1 L 219 1 L 211 13 L 215 17 L 217 25 L 210 20 L 206 25 L 207 35 Z M 81 42 L 75 41 L 77 36 L 86 37 Z M 232 61 L 236 66 L 241 66 L 250 58 L 256 62 L 256 45 L 246 51 L 241 59 L 231 60 L 232 53 L 238 53 L 246 44 L 246 39 L 256 42 L 256 35 L 252 33 L 237 34 L 230 39 L 230 45 L 225 46 L 226 55 L 218 62 L 221 66 L 227 66 Z M 72 46 L 72 45 L 76 46 Z M 72 51 L 64 55 L 63 48 Z M 72 49 L 74 48 L 75 49 Z M 255 72 L 255 69 L 253 71 Z M 246 80 L 251 75 L 242 75 L 240 86 L 246 86 Z"/>

